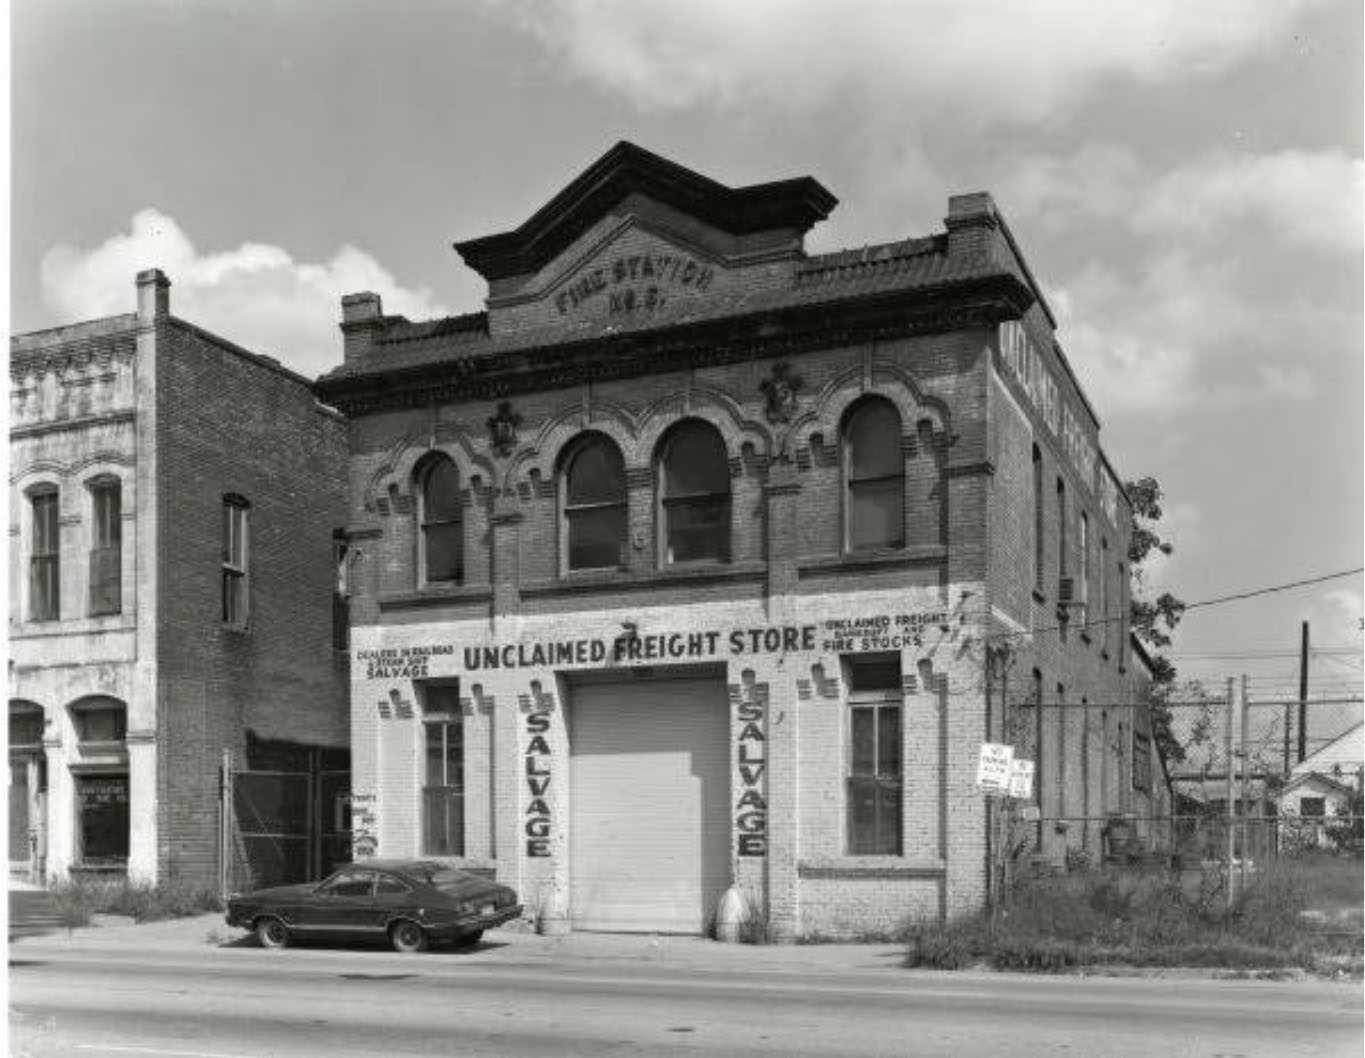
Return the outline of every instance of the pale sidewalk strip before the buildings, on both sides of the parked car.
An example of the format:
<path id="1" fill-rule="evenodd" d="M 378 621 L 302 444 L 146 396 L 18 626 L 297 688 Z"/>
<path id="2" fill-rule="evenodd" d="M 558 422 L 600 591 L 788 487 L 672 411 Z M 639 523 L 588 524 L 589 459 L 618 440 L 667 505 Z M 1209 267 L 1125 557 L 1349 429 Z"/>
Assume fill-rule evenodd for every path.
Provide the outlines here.
<path id="1" fill-rule="evenodd" d="M 120 916 L 97 915 L 90 926 L 22 941 L 23 952 L 29 953 L 44 949 L 172 953 L 253 946 L 251 935 L 229 927 L 221 913 L 143 924 Z M 476 954 L 494 962 L 652 962 L 734 973 L 885 973 L 900 968 L 905 946 L 725 945 L 702 937 L 597 932 L 541 937 L 528 930 L 502 928 L 487 932 Z"/>

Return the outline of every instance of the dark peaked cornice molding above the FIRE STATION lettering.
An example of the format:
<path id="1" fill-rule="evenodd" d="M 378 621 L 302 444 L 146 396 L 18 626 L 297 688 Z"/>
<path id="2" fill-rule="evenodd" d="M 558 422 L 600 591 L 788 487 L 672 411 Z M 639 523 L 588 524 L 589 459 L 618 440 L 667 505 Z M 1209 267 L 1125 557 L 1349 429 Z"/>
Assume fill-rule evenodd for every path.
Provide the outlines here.
<path id="1" fill-rule="evenodd" d="M 527 277 L 632 199 L 654 202 L 732 239 L 762 242 L 784 233 L 797 243 L 837 202 L 809 176 L 726 187 L 622 141 L 515 231 L 459 242 L 455 248 L 491 285 Z"/>

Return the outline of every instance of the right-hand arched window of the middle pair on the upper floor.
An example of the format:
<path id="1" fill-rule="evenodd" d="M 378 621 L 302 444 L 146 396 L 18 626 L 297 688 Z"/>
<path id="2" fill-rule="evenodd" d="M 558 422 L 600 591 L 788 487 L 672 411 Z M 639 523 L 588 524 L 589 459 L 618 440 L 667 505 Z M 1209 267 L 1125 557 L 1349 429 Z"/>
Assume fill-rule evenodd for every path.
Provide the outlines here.
<path id="1" fill-rule="evenodd" d="M 689 419 L 659 456 L 663 561 L 730 560 L 730 461 L 714 426 Z"/>

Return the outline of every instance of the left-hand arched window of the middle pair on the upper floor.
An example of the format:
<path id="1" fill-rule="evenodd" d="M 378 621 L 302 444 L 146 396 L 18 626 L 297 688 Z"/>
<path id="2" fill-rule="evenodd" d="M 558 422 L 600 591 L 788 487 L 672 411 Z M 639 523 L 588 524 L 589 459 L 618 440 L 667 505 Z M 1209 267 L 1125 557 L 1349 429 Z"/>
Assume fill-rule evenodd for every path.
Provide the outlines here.
<path id="1" fill-rule="evenodd" d="M 625 461 L 602 434 L 575 441 L 560 481 L 568 569 L 614 569 L 625 562 Z"/>

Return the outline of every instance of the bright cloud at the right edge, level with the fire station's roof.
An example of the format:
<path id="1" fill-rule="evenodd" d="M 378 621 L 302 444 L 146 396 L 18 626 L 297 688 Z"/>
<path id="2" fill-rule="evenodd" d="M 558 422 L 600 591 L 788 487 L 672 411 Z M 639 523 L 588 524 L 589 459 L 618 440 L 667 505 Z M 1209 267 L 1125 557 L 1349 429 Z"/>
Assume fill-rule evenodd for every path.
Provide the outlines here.
<path id="1" fill-rule="evenodd" d="M 1365 161 L 1340 150 L 1212 157 L 1162 176 L 1133 217 L 1143 233 L 1259 221 L 1289 243 L 1360 253 Z"/>

